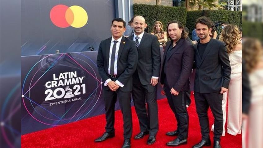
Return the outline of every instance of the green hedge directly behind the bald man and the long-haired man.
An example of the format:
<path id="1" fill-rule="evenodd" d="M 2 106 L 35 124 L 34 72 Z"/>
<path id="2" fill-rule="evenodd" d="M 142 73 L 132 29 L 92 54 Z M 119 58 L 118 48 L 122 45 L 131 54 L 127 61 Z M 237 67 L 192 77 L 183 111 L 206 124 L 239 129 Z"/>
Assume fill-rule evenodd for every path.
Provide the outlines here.
<path id="1" fill-rule="evenodd" d="M 183 25 L 186 23 L 185 7 L 167 7 L 162 5 L 134 4 L 134 15 L 140 15 L 145 18 L 148 25 L 148 32 L 152 31 L 155 21 L 161 21 L 163 28 L 167 29 L 167 24 L 171 20 L 179 20 Z"/>

